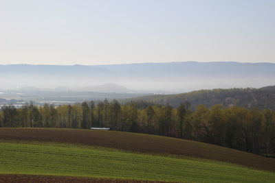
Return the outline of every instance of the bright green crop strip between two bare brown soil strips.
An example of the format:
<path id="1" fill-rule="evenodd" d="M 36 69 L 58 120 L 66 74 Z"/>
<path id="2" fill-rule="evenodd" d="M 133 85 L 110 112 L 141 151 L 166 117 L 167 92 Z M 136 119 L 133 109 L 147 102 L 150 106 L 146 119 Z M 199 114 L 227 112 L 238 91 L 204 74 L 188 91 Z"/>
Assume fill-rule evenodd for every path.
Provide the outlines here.
<path id="1" fill-rule="evenodd" d="M 274 182 L 275 173 L 236 164 L 117 149 L 26 141 L 0 142 L 1 174 L 80 175 L 173 182 Z"/>

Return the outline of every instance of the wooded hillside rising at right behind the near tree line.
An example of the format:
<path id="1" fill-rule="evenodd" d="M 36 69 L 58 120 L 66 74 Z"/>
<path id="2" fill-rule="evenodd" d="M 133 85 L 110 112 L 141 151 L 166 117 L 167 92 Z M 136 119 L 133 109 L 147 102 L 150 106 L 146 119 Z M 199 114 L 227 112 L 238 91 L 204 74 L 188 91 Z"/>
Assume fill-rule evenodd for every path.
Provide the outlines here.
<path id="1" fill-rule="evenodd" d="M 169 103 L 173 107 L 179 106 L 181 102 L 188 101 L 192 109 L 195 109 L 199 104 L 208 107 L 220 104 L 225 107 L 239 106 L 243 108 L 275 109 L 275 86 L 197 90 L 177 95 L 151 95 L 130 100 L 150 101 L 161 105 Z"/>

